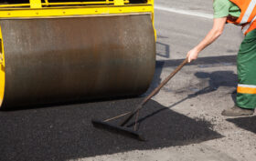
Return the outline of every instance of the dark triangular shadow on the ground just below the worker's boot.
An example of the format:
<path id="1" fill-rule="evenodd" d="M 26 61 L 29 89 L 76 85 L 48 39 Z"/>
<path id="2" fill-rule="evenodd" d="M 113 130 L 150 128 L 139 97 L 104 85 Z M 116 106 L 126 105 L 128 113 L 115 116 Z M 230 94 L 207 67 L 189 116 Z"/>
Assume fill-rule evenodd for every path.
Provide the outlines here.
<path id="1" fill-rule="evenodd" d="M 240 118 L 229 118 L 227 121 L 243 128 L 245 130 L 251 131 L 256 134 L 256 116 L 240 117 Z"/>

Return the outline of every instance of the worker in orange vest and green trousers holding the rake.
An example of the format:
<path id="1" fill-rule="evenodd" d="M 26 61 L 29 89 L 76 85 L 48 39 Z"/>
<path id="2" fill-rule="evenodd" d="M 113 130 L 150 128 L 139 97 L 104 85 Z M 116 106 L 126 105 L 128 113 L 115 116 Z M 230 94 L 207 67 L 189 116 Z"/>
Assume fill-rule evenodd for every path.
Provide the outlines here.
<path id="1" fill-rule="evenodd" d="M 237 56 L 238 87 L 235 106 L 222 111 L 222 116 L 251 116 L 256 107 L 256 1 L 213 0 L 214 18 L 208 35 L 187 52 L 188 62 L 222 34 L 227 23 L 241 25 L 245 35 Z"/>

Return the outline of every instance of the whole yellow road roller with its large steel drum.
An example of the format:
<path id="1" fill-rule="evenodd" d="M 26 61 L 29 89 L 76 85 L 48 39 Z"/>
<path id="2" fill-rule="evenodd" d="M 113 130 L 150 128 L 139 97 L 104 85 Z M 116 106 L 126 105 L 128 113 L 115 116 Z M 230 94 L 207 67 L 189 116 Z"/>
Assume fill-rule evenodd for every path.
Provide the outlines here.
<path id="1" fill-rule="evenodd" d="M 1 109 L 140 96 L 154 73 L 154 0 L 0 1 Z"/>

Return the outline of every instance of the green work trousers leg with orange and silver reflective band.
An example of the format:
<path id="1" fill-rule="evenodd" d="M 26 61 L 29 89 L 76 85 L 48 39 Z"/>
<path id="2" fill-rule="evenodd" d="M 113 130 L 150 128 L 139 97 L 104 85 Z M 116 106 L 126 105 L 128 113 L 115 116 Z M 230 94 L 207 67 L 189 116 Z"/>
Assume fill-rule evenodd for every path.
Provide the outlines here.
<path id="1" fill-rule="evenodd" d="M 256 107 L 256 29 L 248 33 L 240 45 L 237 59 L 239 85 L 236 106 Z"/>

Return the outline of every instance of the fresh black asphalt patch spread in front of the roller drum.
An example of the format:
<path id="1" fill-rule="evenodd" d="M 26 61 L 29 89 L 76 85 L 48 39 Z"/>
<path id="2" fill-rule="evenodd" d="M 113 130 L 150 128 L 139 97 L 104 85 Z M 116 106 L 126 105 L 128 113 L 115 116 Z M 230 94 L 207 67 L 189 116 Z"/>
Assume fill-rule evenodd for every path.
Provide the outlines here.
<path id="1" fill-rule="evenodd" d="M 153 100 L 140 112 L 139 130 L 147 142 L 91 125 L 91 118 L 118 116 L 132 110 L 142 99 L 0 112 L 0 160 L 68 160 L 222 137 L 207 121 L 178 114 Z"/>

